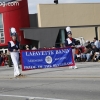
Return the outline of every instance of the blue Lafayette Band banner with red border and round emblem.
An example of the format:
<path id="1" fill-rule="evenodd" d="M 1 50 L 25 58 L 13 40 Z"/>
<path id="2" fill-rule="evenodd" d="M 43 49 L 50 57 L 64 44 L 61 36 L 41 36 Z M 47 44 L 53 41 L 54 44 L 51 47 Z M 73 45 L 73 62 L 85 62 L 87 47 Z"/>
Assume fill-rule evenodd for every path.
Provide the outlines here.
<path id="1" fill-rule="evenodd" d="M 71 48 L 21 51 L 22 70 L 74 65 Z"/>

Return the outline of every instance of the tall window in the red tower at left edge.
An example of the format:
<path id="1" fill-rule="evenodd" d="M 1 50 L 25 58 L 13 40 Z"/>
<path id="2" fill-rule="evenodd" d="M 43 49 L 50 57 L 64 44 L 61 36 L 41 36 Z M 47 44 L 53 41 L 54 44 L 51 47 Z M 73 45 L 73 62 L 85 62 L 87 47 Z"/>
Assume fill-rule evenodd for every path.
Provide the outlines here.
<path id="1" fill-rule="evenodd" d="M 0 43 L 5 43 L 2 14 L 0 14 Z"/>

